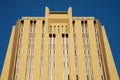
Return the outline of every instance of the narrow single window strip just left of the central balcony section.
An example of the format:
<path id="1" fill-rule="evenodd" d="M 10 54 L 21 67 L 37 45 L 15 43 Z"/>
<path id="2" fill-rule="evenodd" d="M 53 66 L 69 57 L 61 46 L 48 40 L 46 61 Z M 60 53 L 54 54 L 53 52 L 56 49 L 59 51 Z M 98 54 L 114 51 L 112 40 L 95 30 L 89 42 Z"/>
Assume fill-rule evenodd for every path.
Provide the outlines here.
<path id="1" fill-rule="evenodd" d="M 43 63 L 44 63 L 44 26 L 45 22 L 42 23 L 42 40 L 41 40 L 41 60 L 40 60 L 40 80 L 43 80 Z"/>

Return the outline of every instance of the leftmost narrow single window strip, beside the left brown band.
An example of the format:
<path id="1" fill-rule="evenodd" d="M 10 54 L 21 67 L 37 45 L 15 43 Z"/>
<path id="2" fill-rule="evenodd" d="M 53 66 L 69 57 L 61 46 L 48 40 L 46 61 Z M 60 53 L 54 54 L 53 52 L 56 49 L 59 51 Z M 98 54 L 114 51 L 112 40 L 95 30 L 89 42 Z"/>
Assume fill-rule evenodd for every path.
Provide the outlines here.
<path id="1" fill-rule="evenodd" d="M 18 72 L 19 72 L 19 68 L 20 68 L 19 64 L 20 64 L 21 47 L 22 47 L 22 35 L 23 35 L 23 25 L 24 25 L 23 23 L 24 22 L 21 21 L 14 80 L 18 80 Z"/>

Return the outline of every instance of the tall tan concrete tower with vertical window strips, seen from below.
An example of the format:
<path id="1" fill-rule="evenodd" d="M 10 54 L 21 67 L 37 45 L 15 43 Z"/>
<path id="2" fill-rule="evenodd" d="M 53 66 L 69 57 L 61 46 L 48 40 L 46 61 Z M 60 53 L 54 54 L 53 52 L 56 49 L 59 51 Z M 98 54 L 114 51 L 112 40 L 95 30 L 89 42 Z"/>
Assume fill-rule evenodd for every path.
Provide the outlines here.
<path id="1" fill-rule="evenodd" d="M 104 26 L 94 17 L 49 11 L 12 28 L 2 80 L 119 80 Z"/>

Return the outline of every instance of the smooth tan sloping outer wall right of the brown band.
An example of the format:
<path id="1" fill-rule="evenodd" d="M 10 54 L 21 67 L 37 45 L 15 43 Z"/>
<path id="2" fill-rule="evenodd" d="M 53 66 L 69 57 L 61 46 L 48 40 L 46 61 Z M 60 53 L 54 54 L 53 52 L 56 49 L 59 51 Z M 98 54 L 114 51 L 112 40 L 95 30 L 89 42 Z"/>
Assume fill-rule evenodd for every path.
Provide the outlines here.
<path id="1" fill-rule="evenodd" d="M 106 58 L 107 58 L 107 63 L 108 63 L 110 79 L 111 80 L 119 80 L 116 66 L 114 63 L 114 58 L 112 56 L 112 52 L 111 52 L 110 45 L 109 45 L 109 42 L 108 42 L 108 39 L 107 39 L 107 36 L 105 33 L 104 26 L 102 26 L 102 32 L 103 32 L 103 40 L 104 40 L 104 44 L 105 44 L 105 51 L 106 51 L 106 55 L 107 55 Z"/>

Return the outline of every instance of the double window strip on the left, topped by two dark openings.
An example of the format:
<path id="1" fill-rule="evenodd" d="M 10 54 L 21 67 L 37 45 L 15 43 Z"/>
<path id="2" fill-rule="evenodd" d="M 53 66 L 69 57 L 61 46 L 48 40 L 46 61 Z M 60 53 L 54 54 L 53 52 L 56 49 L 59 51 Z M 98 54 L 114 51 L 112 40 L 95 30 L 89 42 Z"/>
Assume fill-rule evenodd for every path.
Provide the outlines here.
<path id="1" fill-rule="evenodd" d="M 27 52 L 26 80 L 33 80 L 34 46 L 35 46 L 36 21 L 30 21 L 30 32 Z"/>

